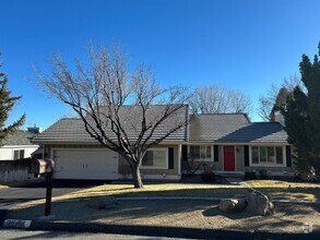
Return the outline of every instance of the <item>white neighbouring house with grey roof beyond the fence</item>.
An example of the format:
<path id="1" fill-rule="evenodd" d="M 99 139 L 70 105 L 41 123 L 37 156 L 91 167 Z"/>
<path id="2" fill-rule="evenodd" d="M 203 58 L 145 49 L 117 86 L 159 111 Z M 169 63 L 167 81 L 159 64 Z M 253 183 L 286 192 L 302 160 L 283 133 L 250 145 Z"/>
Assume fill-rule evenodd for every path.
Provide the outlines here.
<path id="1" fill-rule="evenodd" d="M 39 128 L 28 128 L 27 131 L 16 131 L 2 142 L 0 160 L 16 160 L 31 157 L 39 147 L 31 141 L 39 133 Z"/>

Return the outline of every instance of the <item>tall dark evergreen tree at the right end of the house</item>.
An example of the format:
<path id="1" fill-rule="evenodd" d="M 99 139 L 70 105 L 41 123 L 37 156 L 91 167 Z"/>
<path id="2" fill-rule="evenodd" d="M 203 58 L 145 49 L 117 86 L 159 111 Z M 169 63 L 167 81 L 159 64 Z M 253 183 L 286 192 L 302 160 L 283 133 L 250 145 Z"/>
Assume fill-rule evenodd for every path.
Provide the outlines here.
<path id="1" fill-rule="evenodd" d="M 319 43 L 320 55 L 320 43 Z M 320 172 L 320 63 L 318 56 L 313 62 L 303 55 L 300 62 L 301 81 L 307 88 L 305 94 L 296 87 L 287 98 L 283 110 L 285 129 L 289 143 L 295 146 L 295 161 L 300 170 L 311 167 Z"/>

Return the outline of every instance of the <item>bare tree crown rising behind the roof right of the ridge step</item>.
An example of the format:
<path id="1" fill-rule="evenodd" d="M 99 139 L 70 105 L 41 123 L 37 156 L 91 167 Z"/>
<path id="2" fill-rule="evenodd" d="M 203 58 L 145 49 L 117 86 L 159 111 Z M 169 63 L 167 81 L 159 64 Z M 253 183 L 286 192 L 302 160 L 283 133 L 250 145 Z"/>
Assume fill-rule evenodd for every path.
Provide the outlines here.
<path id="1" fill-rule="evenodd" d="M 197 87 L 189 100 L 197 113 L 249 113 L 251 99 L 240 91 L 226 89 L 222 85 Z"/>

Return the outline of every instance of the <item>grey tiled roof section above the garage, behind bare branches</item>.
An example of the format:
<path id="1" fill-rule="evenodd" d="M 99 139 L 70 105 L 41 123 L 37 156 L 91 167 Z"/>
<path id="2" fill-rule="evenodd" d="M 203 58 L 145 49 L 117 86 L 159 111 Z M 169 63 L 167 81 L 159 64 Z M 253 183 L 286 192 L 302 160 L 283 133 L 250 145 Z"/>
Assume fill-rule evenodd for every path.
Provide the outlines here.
<path id="1" fill-rule="evenodd" d="M 149 111 L 147 121 L 153 122 L 157 117 L 156 115 L 164 110 L 164 106 L 152 106 Z M 135 140 L 141 129 L 141 112 L 139 108 L 132 108 L 126 106 L 119 113 L 123 125 L 126 127 L 126 133 L 129 139 Z M 187 121 L 188 107 L 183 107 L 178 110 L 175 115 L 164 121 L 154 132 L 153 139 L 163 136 L 169 130 L 171 130 L 178 121 Z M 106 133 L 111 139 L 116 140 L 115 134 L 111 132 L 109 127 L 106 127 Z M 181 142 L 187 141 L 187 127 L 182 127 L 176 132 L 171 133 L 165 142 Z M 39 134 L 33 141 L 35 143 L 79 143 L 79 144 L 98 144 L 98 142 L 91 137 L 85 131 L 84 123 L 81 119 L 76 118 L 63 118 L 54 123 L 50 128 Z"/>

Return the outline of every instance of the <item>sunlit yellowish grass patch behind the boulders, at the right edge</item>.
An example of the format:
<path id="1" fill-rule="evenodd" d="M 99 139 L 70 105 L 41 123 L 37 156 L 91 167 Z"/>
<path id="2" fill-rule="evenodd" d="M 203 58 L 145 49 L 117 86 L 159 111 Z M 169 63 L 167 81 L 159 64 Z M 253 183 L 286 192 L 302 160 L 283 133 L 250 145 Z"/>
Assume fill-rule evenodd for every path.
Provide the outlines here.
<path id="1" fill-rule="evenodd" d="M 250 180 L 246 182 L 251 188 L 270 196 L 271 200 L 320 201 L 319 183 L 275 180 Z"/>

